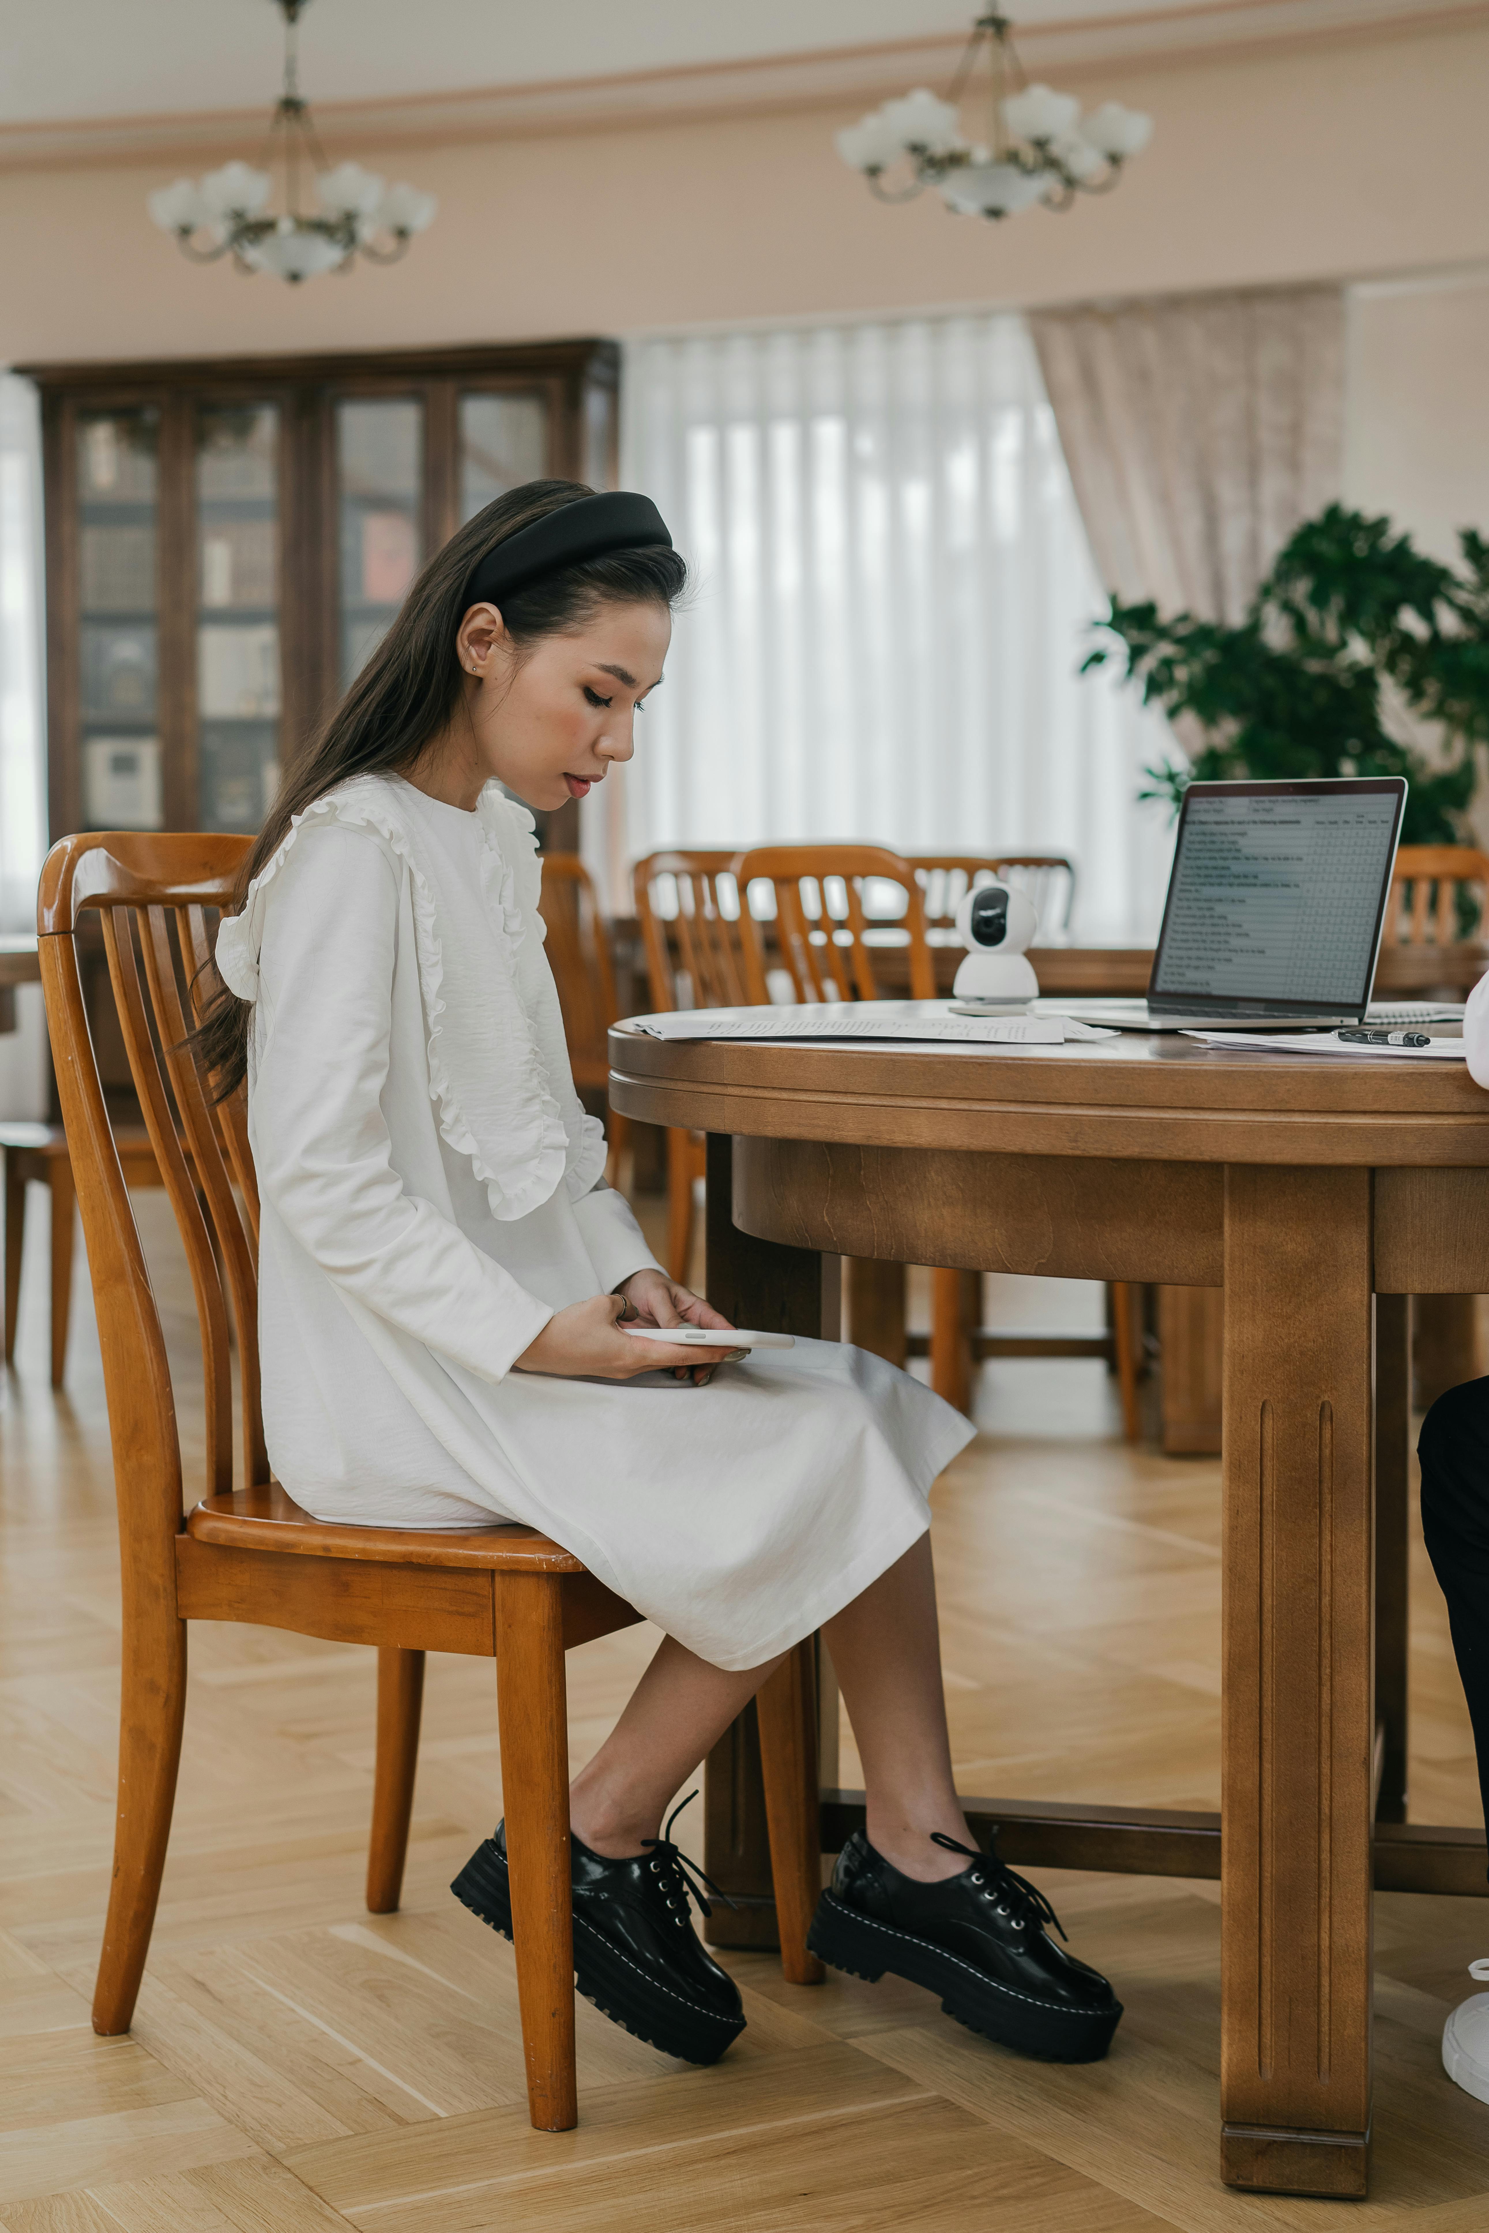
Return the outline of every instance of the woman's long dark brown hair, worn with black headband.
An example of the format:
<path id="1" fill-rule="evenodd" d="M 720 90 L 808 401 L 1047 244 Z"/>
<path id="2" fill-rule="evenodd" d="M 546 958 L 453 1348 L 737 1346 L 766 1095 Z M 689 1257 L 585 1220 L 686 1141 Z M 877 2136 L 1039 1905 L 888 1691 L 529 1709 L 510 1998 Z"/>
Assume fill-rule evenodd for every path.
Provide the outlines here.
<path id="1" fill-rule="evenodd" d="M 578 480 L 529 480 L 478 511 L 435 552 L 409 590 L 393 627 L 362 668 L 335 712 L 295 757 L 239 869 L 232 911 L 248 884 L 272 860 L 295 815 L 304 815 L 350 775 L 406 775 L 422 753 L 453 721 L 464 670 L 455 657 L 455 634 L 467 612 L 464 585 L 475 565 L 534 520 L 594 491 Z M 688 567 L 665 547 L 609 552 L 502 596 L 502 621 L 518 652 L 542 636 L 583 627 L 596 605 L 674 605 L 688 583 Z M 201 1025 L 194 1043 L 217 1099 L 234 1092 L 248 1072 L 250 1003 L 239 1000 L 208 962 L 196 980 Z"/>

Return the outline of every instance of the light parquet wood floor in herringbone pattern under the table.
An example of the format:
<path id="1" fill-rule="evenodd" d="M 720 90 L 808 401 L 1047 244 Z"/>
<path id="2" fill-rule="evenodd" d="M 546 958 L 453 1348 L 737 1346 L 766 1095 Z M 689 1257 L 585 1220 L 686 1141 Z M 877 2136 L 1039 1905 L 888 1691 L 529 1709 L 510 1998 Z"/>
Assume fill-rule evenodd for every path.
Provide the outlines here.
<path id="1" fill-rule="evenodd" d="M 190 1295 L 163 1197 L 136 1206 L 190 1440 Z M 1364 2204 L 1219 2184 L 1217 1887 L 1145 1878 L 1043 1878 L 1127 2003 L 1107 2063 L 1022 2063 L 911 1985 L 799 1990 L 768 1956 L 741 1956 L 750 2028 L 726 2063 L 670 2063 L 580 2003 L 583 2121 L 531 2133 L 509 1949 L 446 1891 L 500 1809 L 491 1670 L 431 1661 L 404 1909 L 375 1918 L 362 1907 L 371 1655 L 270 1630 L 192 1635 L 138 2021 L 129 2039 L 96 2039 L 118 1628 L 109 1449 L 83 1266 L 67 1393 L 47 1387 L 33 1219 L 18 1373 L 0 1389 L 4 2233 L 1489 2226 L 1489 2110 L 1438 2063 L 1442 2019 L 1471 1990 L 1464 1963 L 1489 1952 L 1476 1900 L 1377 1903 Z M 1092 1364 L 989 1367 L 980 1402 L 984 1434 L 942 1480 L 935 1518 L 964 1789 L 1212 1806 L 1217 1467 L 1125 1449 Z M 1420 1554 L 1413 1588 L 1413 1804 L 1473 1820 L 1467 1715 Z M 634 1630 L 571 1657 L 576 1757 L 650 1646 Z M 855 1775 L 844 1737 L 844 1782 Z"/>

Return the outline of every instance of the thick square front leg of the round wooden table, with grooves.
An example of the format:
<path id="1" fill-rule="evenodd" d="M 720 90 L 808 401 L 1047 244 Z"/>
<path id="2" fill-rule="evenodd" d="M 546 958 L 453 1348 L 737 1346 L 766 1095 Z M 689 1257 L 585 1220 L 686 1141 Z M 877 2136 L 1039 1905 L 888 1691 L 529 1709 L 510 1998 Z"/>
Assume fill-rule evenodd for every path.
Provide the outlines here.
<path id="1" fill-rule="evenodd" d="M 1371 1172 L 1226 1172 L 1221 2170 L 1364 2195 Z"/>

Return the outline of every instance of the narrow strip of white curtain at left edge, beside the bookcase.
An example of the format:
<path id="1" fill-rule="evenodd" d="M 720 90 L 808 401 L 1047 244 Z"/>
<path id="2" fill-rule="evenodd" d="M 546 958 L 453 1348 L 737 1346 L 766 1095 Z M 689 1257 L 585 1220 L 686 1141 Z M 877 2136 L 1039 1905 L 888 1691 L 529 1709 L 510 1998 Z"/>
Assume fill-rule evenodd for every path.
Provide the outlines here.
<path id="1" fill-rule="evenodd" d="M 0 373 L 0 931 L 36 929 L 47 844 L 40 418 Z"/>

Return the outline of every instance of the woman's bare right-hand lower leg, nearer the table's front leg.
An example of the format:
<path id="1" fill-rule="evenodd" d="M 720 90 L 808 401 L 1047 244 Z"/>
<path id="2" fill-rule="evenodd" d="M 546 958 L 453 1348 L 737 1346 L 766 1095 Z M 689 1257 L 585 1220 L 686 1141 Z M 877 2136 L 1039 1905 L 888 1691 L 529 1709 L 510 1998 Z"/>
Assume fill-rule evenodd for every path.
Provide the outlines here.
<path id="1" fill-rule="evenodd" d="M 960 1876 L 967 1860 L 931 1844 L 933 1829 L 976 1844 L 951 1775 L 931 1536 L 871 1581 L 822 1635 L 864 1762 L 868 1844 L 922 1882 Z"/>

